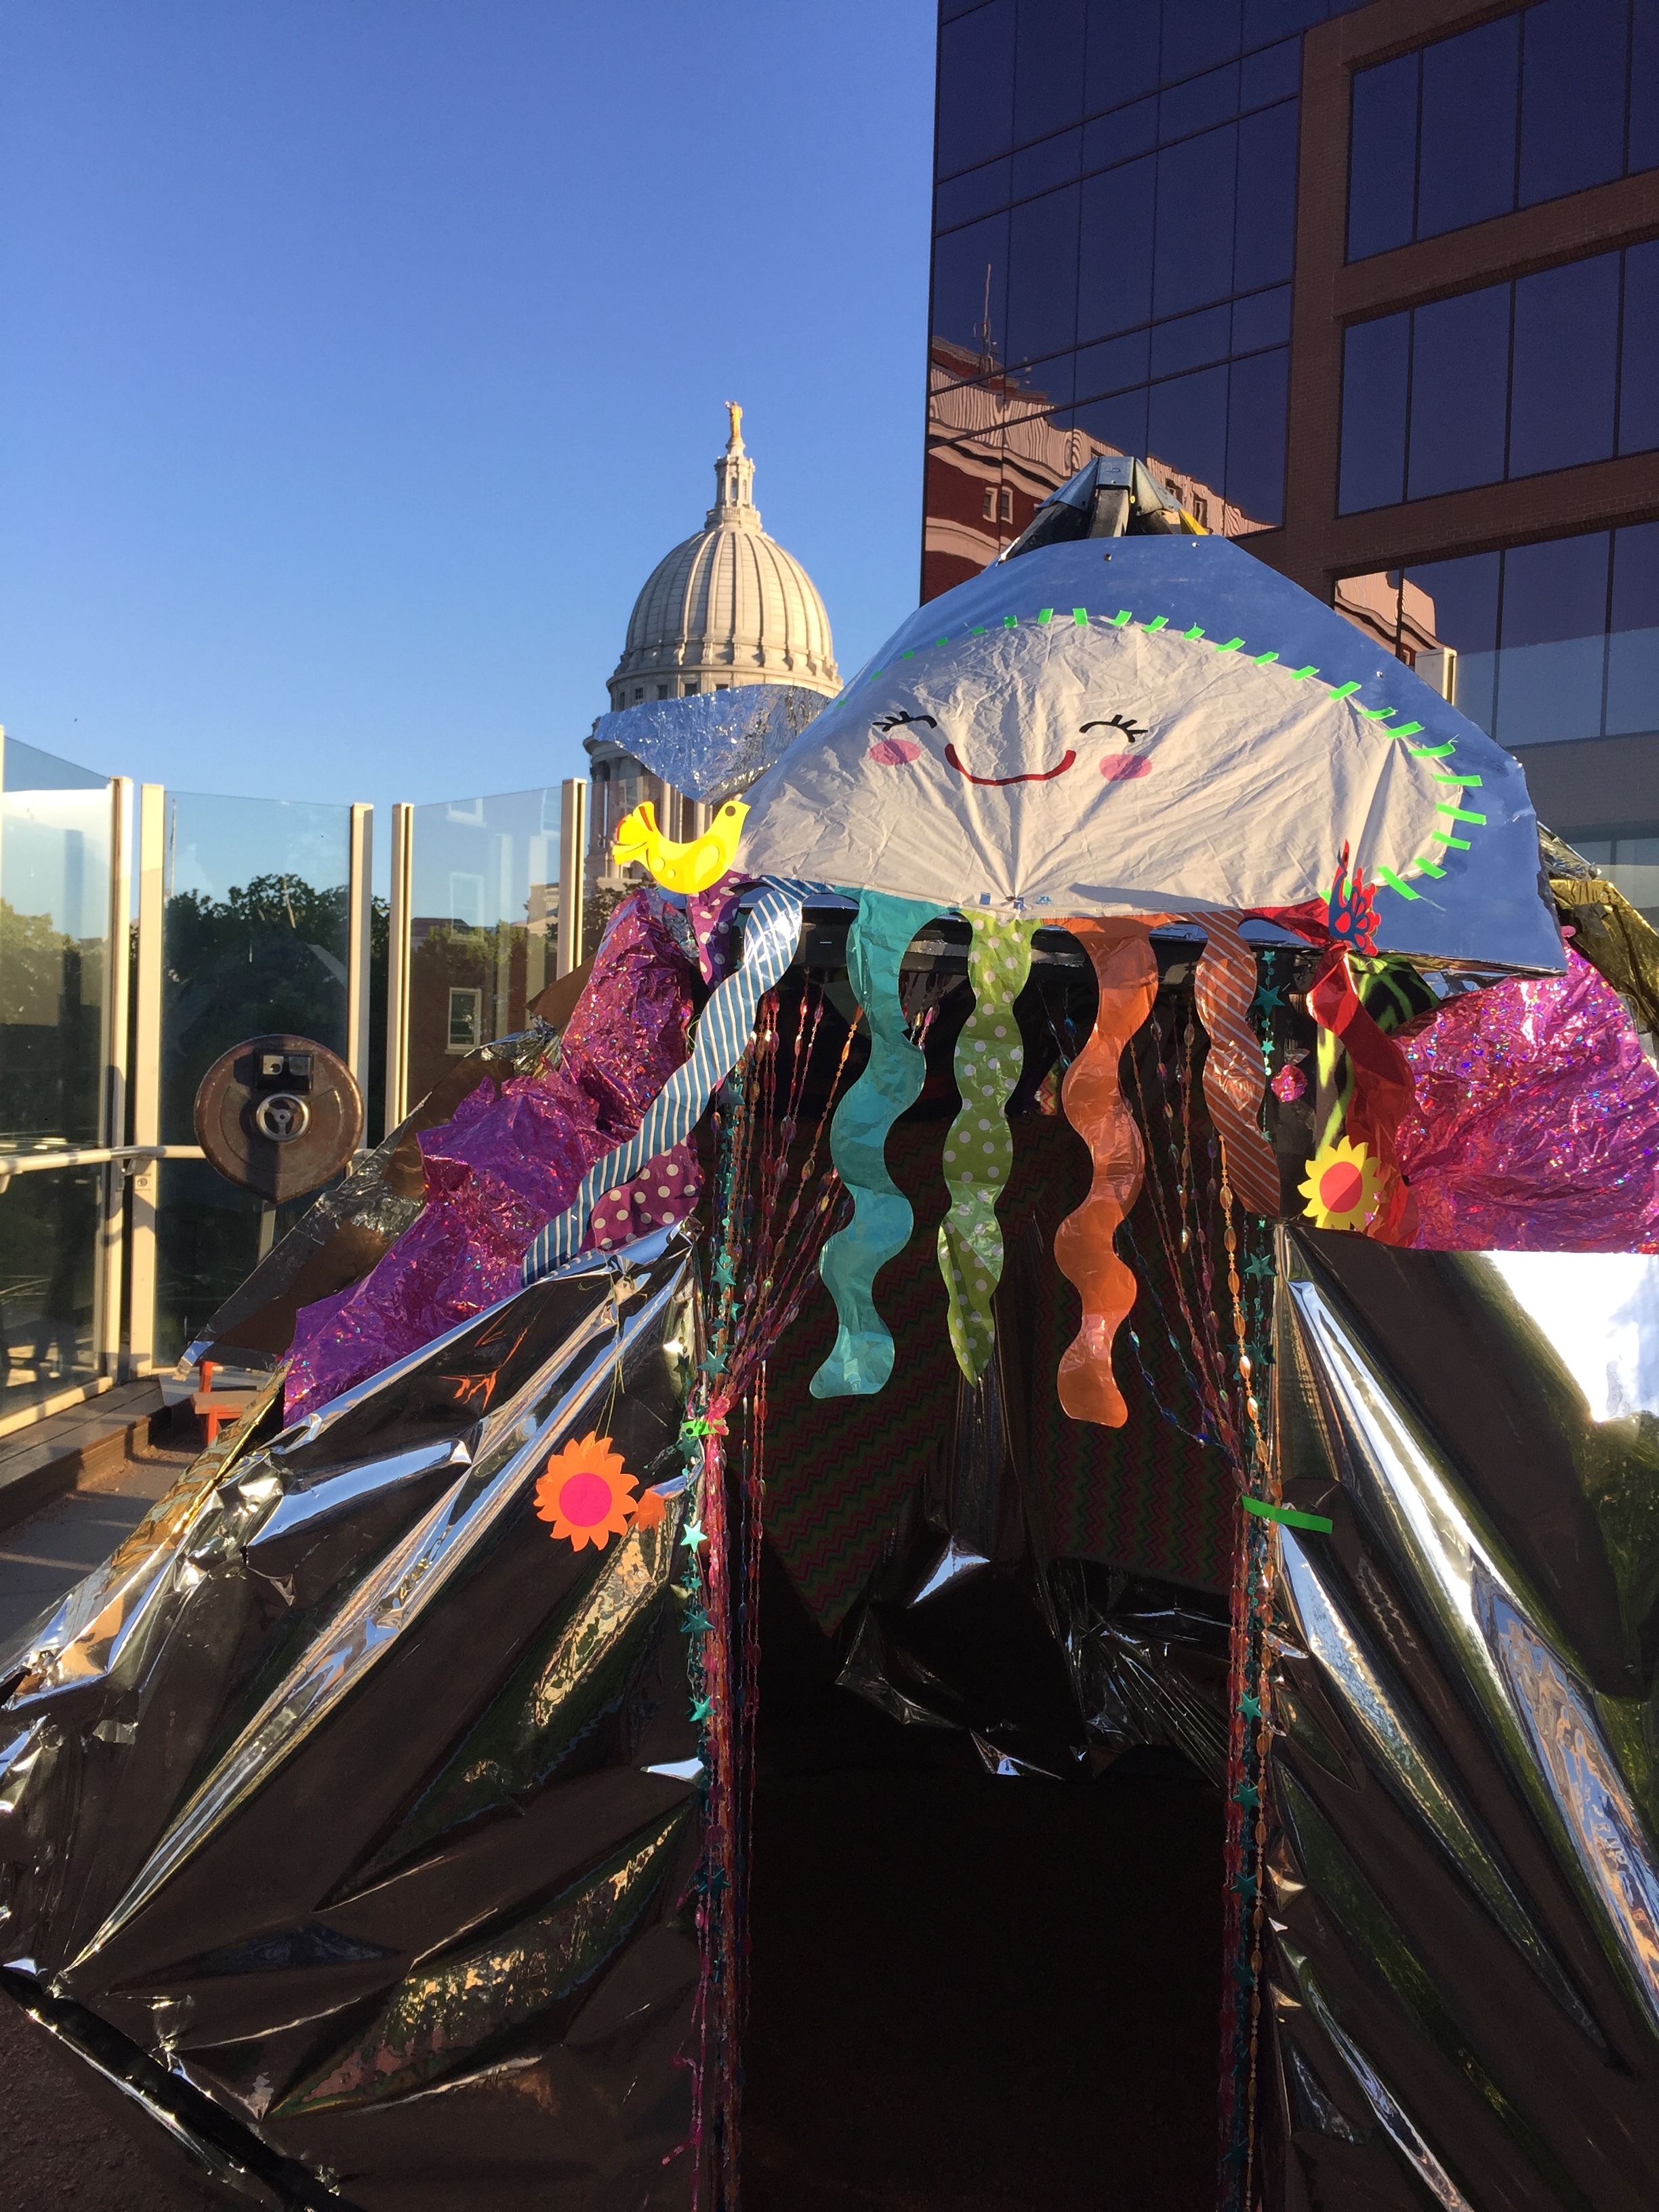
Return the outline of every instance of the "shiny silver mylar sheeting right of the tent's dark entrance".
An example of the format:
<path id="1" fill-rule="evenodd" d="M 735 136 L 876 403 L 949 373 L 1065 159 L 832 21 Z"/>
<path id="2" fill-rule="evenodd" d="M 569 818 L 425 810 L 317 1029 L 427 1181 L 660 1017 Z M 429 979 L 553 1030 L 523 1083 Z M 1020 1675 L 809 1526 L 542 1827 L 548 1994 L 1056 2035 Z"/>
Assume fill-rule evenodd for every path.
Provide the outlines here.
<path id="1" fill-rule="evenodd" d="M 1659 2203 L 1659 1259 L 1281 1230 L 1263 2205 Z"/>

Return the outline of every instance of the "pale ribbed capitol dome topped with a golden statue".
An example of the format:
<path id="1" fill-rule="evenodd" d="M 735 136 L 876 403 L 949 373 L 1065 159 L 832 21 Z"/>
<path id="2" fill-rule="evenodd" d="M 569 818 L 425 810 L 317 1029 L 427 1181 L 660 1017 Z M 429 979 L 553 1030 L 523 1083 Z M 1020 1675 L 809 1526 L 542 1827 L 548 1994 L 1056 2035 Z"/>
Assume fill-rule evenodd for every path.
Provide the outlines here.
<path id="1" fill-rule="evenodd" d="M 841 690 L 830 617 L 801 566 L 761 529 L 743 409 L 728 400 L 732 436 L 714 462 L 714 504 L 646 577 L 628 644 L 611 677 L 611 706 L 684 699 L 732 684 Z"/>

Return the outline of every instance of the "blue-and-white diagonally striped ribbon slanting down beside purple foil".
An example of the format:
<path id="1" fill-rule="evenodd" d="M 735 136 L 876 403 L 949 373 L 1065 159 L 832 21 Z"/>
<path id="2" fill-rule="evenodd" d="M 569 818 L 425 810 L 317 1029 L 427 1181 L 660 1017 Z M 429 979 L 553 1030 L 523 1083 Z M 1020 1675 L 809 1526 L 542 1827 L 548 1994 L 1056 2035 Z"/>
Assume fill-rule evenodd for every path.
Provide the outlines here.
<path id="1" fill-rule="evenodd" d="M 743 929 L 743 964 L 714 989 L 697 1022 L 697 1042 L 675 1068 L 646 1117 L 615 1152 L 595 1161 L 582 1179 L 575 1203 L 555 1214 L 524 1254 L 524 1281 L 535 1283 L 575 1259 L 588 1232 L 588 1217 L 606 1190 L 633 1181 L 646 1161 L 684 1144 L 703 1117 L 714 1091 L 737 1066 L 754 1031 L 754 1009 L 794 958 L 801 938 L 801 907 L 816 883 L 768 876 Z"/>

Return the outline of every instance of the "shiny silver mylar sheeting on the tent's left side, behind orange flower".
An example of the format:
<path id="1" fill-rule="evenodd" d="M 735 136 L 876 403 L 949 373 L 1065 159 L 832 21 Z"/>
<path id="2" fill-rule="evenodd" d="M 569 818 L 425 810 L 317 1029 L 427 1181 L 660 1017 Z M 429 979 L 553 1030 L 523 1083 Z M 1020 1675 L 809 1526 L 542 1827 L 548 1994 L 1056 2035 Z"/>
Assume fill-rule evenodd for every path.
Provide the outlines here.
<path id="1" fill-rule="evenodd" d="M 668 1230 L 281 1433 L 272 1385 L 0 1652 L 0 1986 L 197 2183 L 686 2201 L 681 1502 L 575 1551 L 533 1489 L 588 1431 L 679 1478 L 697 1354 Z"/>

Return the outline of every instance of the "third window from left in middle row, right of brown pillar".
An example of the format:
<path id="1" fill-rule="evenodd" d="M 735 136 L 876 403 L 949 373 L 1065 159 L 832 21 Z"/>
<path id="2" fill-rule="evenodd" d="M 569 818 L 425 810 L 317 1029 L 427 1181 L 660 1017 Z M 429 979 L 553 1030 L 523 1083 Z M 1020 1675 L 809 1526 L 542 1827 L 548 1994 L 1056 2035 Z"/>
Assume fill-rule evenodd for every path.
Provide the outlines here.
<path id="1" fill-rule="evenodd" d="M 1511 476 L 1608 458 L 1617 354 L 1617 254 L 1520 279 L 1509 398 Z"/>

